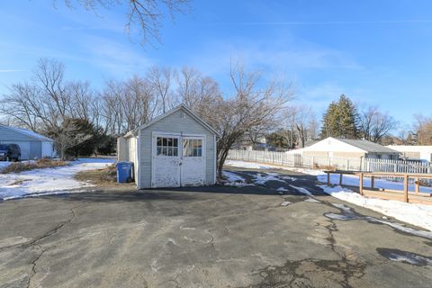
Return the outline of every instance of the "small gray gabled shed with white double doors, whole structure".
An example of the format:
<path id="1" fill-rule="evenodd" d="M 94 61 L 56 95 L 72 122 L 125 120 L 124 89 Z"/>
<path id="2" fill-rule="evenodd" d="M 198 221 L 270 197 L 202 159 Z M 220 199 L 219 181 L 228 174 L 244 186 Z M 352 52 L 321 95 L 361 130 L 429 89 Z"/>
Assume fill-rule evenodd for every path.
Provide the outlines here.
<path id="1" fill-rule="evenodd" d="M 140 189 L 215 184 L 218 135 L 179 105 L 119 138 L 117 157 L 133 162 Z"/>

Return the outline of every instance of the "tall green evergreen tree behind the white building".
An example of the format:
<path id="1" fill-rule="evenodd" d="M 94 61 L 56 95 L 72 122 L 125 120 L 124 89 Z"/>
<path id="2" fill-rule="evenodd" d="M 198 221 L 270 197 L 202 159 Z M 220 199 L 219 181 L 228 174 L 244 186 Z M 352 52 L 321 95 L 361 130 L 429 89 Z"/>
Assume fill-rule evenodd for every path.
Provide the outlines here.
<path id="1" fill-rule="evenodd" d="M 358 132 L 356 105 L 344 94 L 336 102 L 329 104 L 324 114 L 321 139 L 327 137 L 356 139 Z"/>

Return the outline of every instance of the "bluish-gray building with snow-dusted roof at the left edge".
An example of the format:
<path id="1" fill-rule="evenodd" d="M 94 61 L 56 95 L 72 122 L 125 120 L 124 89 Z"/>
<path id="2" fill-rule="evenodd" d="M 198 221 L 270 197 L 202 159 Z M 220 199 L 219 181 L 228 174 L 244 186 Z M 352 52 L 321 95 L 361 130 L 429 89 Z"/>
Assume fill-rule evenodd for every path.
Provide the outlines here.
<path id="1" fill-rule="evenodd" d="M 54 140 L 31 130 L 0 124 L 0 144 L 17 144 L 21 159 L 54 157 Z"/>

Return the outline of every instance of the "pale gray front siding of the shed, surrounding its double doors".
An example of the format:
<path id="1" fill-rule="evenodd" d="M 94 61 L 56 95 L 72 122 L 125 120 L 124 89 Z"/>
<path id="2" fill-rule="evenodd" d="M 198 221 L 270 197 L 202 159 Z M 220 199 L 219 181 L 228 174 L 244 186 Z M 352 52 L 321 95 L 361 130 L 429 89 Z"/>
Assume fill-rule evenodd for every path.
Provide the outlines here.
<path id="1" fill-rule="evenodd" d="M 181 113 L 184 113 L 185 117 L 182 117 Z M 166 116 L 166 118 L 163 118 L 160 121 L 157 121 L 152 125 L 140 130 L 139 174 L 141 183 L 139 186 L 141 188 L 151 187 L 151 145 L 153 132 L 204 135 L 206 143 L 205 184 L 214 184 L 214 134 L 210 130 L 203 127 L 199 121 L 195 121 L 187 112 L 179 110 Z"/>

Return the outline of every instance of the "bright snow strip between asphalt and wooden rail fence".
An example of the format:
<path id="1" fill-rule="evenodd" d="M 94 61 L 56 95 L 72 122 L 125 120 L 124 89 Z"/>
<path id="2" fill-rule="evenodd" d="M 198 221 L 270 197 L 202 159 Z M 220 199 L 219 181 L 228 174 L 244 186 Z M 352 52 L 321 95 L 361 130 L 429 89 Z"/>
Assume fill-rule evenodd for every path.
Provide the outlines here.
<path id="1" fill-rule="evenodd" d="M 411 204 L 393 200 L 368 198 L 341 186 L 319 185 L 324 192 L 340 200 L 351 202 L 397 220 L 410 223 L 432 231 L 432 205 Z"/>

